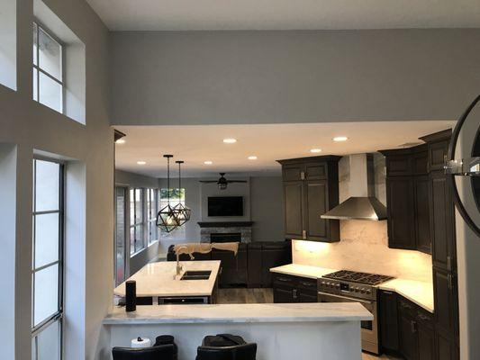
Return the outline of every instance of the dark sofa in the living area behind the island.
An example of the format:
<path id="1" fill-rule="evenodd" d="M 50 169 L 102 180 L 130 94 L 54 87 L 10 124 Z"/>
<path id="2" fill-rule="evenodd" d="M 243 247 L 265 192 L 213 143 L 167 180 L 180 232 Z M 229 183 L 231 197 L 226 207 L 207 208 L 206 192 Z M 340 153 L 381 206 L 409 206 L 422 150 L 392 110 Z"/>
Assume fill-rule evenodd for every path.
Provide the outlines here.
<path id="1" fill-rule="evenodd" d="M 168 247 L 167 260 L 176 261 L 173 245 Z M 291 241 L 256 241 L 240 243 L 235 257 L 231 251 L 213 249 L 207 254 L 194 253 L 198 260 L 221 260 L 222 272 L 219 279 L 221 287 L 250 288 L 272 287 L 269 269 L 292 262 Z M 180 255 L 181 261 L 191 261 L 186 254 Z"/>

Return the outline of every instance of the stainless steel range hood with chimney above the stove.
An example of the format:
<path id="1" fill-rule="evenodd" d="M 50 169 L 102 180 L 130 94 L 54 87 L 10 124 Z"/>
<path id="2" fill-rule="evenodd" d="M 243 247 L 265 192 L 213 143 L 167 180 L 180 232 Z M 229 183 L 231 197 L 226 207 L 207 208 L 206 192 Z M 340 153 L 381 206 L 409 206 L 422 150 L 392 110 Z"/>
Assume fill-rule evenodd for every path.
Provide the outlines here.
<path id="1" fill-rule="evenodd" d="M 375 197 L 375 171 L 372 154 L 349 156 L 349 194 L 346 201 L 324 213 L 322 219 L 385 220 L 386 208 Z"/>

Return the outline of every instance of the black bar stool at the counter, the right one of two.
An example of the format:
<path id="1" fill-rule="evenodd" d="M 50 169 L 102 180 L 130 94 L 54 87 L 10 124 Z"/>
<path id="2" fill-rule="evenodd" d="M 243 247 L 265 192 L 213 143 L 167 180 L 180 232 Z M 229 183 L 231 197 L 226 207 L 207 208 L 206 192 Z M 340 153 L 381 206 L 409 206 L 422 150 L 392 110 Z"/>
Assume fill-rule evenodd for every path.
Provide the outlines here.
<path id="1" fill-rule="evenodd" d="M 231 334 L 205 337 L 196 351 L 196 360 L 256 360 L 256 356 L 257 344 Z"/>

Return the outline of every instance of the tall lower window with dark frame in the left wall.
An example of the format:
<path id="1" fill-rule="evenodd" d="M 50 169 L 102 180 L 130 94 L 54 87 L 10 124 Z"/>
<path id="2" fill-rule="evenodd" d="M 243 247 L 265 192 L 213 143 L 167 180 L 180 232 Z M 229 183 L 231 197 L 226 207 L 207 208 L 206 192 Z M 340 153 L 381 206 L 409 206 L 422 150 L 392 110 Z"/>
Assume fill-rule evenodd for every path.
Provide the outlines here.
<path id="1" fill-rule="evenodd" d="M 63 166 L 33 160 L 32 360 L 61 359 Z"/>

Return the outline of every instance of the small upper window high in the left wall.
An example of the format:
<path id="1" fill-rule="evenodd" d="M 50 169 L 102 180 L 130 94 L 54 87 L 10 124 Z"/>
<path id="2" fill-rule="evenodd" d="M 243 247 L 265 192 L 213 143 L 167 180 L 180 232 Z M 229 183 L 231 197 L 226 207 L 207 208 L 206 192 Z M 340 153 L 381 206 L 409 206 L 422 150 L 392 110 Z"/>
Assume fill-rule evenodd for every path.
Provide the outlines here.
<path id="1" fill-rule="evenodd" d="M 62 45 L 33 23 L 33 100 L 63 112 L 64 84 Z"/>

